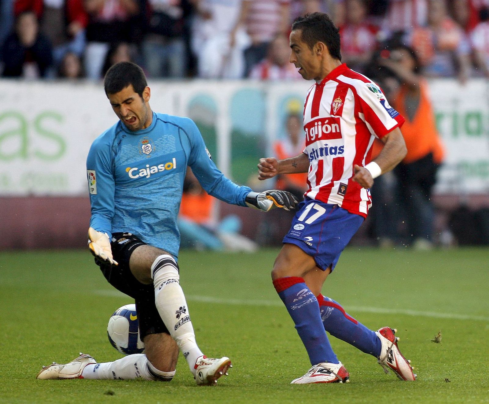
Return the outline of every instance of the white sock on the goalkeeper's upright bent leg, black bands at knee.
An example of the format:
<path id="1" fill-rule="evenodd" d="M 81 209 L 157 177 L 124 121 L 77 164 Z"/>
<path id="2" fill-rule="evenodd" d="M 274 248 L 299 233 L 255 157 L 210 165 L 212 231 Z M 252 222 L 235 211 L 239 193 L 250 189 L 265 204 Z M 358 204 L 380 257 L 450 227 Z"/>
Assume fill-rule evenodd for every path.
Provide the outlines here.
<path id="1" fill-rule="evenodd" d="M 195 342 L 187 302 L 179 284 L 177 263 L 171 255 L 160 255 L 151 266 L 151 274 L 156 309 L 195 376 L 195 362 L 203 354 Z"/>

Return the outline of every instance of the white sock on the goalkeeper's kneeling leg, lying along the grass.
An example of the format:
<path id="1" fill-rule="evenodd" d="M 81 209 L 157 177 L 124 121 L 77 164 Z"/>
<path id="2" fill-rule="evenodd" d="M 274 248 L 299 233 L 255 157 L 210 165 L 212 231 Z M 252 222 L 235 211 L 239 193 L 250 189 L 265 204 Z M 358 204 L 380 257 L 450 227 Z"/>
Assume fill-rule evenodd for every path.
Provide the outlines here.
<path id="1" fill-rule="evenodd" d="M 175 376 L 173 372 L 162 372 L 156 369 L 144 354 L 128 355 L 113 362 L 93 363 L 85 366 L 84 379 L 114 380 L 160 380 L 169 382 Z"/>

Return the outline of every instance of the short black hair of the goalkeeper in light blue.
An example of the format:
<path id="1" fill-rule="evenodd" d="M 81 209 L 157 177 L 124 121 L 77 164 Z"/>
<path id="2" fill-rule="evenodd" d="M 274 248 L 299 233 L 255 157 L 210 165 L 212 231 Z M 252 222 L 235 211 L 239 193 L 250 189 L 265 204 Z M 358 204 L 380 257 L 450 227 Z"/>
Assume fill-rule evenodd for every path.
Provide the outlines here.
<path id="1" fill-rule="evenodd" d="M 125 89 L 130 84 L 133 85 L 135 92 L 143 97 L 143 91 L 148 85 L 146 76 L 141 67 L 132 62 L 120 62 L 113 65 L 104 78 L 105 94 L 115 94 Z"/>

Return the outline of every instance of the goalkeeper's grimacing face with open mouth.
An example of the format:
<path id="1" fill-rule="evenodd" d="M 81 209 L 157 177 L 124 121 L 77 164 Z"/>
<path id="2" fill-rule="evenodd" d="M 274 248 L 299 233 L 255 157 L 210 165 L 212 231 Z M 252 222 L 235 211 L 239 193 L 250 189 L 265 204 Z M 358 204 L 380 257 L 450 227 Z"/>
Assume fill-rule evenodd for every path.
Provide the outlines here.
<path id="1" fill-rule="evenodd" d="M 153 119 L 153 113 L 148 104 L 151 96 L 150 88 L 146 87 L 142 95 L 141 98 L 134 91 L 132 84 L 115 94 L 107 95 L 112 110 L 126 128 L 132 132 L 148 128 Z"/>

